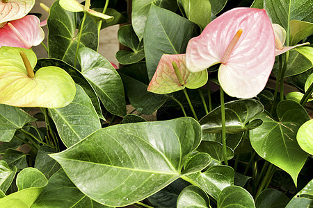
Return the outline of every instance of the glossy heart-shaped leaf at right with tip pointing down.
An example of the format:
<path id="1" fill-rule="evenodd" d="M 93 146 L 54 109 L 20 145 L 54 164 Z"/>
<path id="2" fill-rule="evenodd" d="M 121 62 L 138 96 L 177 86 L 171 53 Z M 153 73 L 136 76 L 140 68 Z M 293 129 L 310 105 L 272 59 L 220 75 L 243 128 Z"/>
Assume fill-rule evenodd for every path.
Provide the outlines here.
<path id="1" fill-rule="evenodd" d="M 296 134 L 310 117 L 299 103 L 290 100 L 278 103 L 277 115 L 278 121 L 265 112 L 257 116 L 263 123 L 250 130 L 250 142 L 259 156 L 289 173 L 297 184 L 307 153 L 298 145 Z"/>

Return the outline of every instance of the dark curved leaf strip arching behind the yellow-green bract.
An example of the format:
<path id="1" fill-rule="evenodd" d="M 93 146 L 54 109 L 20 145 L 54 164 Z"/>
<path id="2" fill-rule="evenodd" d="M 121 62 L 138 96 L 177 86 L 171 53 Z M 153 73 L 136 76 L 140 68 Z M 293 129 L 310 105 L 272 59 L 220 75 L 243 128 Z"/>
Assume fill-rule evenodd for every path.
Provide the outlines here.
<path id="1" fill-rule="evenodd" d="M 93 106 L 95 107 L 95 110 L 97 110 L 97 114 L 100 119 L 104 119 L 104 116 L 102 115 L 102 110 L 99 103 L 99 98 L 97 97 L 97 94 L 95 93 L 95 90 L 91 85 L 88 83 L 86 78 L 81 74 L 80 71 L 75 69 L 74 67 L 70 66 L 69 64 L 63 62 L 62 60 L 54 59 L 54 58 L 42 58 L 38 60 L 37 67 L 49 67 L 49 66 L 56 66 L 64 69 L 70 76 L 73 78 L 74 82 L 77 85 L 80 85 L 83 87 L 83 90 L 88 94 L 89 98 L 93 102 Z"/>

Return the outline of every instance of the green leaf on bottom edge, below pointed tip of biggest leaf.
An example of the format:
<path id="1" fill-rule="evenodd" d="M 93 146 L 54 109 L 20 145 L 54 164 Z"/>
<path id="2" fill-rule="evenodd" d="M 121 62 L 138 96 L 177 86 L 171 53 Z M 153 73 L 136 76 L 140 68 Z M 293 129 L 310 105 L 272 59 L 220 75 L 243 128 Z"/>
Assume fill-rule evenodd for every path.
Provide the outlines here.
<path id="1" fill-rule="evenodd" d="M 67 177 L 63 169 L 60 169 L 49 179 L 49 183 L 43 189 L 33 208 L 39 207 L 106 207 L 99 205 L 83 194 Z"/>

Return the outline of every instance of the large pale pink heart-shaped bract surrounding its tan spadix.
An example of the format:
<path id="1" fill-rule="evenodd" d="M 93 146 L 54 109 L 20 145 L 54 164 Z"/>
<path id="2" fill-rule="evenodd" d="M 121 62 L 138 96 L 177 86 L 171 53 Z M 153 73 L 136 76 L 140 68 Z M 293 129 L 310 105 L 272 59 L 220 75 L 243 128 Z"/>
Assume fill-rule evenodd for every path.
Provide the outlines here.
<path id="1" fill-rule="evenodd" d="M 251 98 L 264 89 L 275 61 L 274 33 L 265 10 L 234 8 L 211 21 L 188 42 L 186 66 L 195 72 L 220 63 L 240 29 L 230 58 L 220 65 L 218 80 L 230 96 Z"/>

